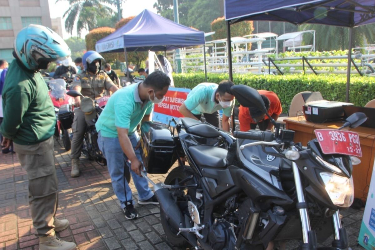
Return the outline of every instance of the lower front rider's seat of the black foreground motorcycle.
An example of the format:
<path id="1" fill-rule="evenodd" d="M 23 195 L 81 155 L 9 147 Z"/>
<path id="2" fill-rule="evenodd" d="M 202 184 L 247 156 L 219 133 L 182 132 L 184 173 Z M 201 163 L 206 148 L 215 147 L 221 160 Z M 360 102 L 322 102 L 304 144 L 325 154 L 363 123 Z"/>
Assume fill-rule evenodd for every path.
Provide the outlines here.
<path id="1" fill-rule="evenodd" d="M 189 151 L 198 166 L 225 168 L 228 165 L 228 150 L 211 146 L 190 146 Z"/>

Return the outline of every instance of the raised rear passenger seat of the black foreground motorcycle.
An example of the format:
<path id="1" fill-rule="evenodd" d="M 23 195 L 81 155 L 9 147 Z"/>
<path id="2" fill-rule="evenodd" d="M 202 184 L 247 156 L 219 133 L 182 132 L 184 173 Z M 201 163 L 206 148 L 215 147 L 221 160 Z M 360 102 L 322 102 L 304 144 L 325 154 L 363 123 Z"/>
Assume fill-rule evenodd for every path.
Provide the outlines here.
<path id="1" fill-rule="evenodd" d="M 192 135 L 201 136 L 204 138 L 216 138 L 220 136 L 219 130 L 207 123 L 202 123 L 192 118 L 181 118 L 181 122 L 185 127 L 187 133 Z"/>

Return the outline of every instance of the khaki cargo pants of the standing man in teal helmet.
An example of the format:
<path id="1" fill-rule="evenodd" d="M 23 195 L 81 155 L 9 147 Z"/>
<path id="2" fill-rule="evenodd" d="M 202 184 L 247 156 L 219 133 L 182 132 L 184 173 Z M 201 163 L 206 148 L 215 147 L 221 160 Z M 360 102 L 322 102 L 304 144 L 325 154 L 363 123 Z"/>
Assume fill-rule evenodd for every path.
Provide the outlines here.
<path id="1" fill-rule="evenodd" d="M 57 210 L 58 179 L 56 175 L 53 136 L 34 145 L 14 143 L 18 160 L 27 172 L 28 198 L 36 236 L 49 235 L 54 230 Z"/>

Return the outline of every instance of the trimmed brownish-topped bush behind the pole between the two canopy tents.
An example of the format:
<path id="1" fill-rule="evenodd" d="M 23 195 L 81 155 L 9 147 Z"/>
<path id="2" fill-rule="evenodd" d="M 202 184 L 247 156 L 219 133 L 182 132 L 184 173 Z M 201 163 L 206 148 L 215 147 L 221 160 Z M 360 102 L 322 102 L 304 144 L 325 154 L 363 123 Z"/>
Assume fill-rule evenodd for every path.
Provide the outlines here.
<path id="1" fill-rule="evenodd" d="M 225 18 L 222 16 L 211 22 L 211 30 L 215 31 L 215 34 L 212 35 L 213 39 L 226 38 Z M 237 22 L 231 25 L 231 36 L 245 36 L 251 34 L 253 30 L 253 21 Z"/>

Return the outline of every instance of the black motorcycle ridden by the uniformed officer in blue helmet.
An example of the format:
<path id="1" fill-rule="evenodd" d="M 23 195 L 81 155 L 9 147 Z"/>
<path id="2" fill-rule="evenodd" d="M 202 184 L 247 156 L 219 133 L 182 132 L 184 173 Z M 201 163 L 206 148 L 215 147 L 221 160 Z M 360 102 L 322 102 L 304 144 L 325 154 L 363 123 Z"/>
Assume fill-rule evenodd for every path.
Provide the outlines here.
<path id="1" fill-rule="evenodd" d="M 100 165 L 105 166 L 107 165 L 107 160 L 103 156 L 102 151 L 99 149 L 98 145 L 98 132 L 96 131 L 95 123 L 98 120 L 100 114 L 102 113 L 105 103 L 107 103 L 107 100 L 109 99 L 109 96 L 106 97 L 108 98 L 104 102 L 100 102 L 99 100 L 93 101 L 90 97 L 85 97 L 83 96 L 80 92 L 76 90 L 70 90 L 68 93 L 66 93 L 69 96 L 72 97 L 77 97 L 81 96 L 83 99 L 90 99 L 90 102 L 93 102 L 93 110 L 92 112 L 95 112 L 95 117 L 90 120 L 86 119 L 86 132 L 83 138 L 83 145 L 82 145 L 82 154 L 89 160 L 95 160 L 98 162 Z M 83 100 L 82 99 L 82 100 Z M 70 109 L 71 110 L 71 109 Z M 72 120 L 73 121 L 73 120 Z M 127 182 L 130 181 L 130 171 L 129 167 L 125 165 L 125 178 Z"/>

